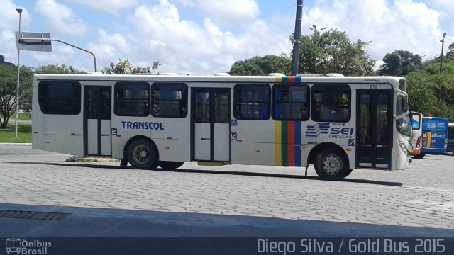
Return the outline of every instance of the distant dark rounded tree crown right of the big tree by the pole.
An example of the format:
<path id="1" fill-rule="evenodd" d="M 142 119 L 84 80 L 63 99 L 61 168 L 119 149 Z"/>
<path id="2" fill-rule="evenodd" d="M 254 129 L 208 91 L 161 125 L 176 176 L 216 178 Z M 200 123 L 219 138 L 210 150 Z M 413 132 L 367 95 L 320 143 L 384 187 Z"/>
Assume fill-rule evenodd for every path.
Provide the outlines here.
<path id="1" fill-rule="evenodd" d="M 394 50 L 383 57 L 383 64 L 380 65 L 377 74 L 406 76 L 410 72 L 422 69 L 422 57 L 414 55 L 408 50 Z"/>

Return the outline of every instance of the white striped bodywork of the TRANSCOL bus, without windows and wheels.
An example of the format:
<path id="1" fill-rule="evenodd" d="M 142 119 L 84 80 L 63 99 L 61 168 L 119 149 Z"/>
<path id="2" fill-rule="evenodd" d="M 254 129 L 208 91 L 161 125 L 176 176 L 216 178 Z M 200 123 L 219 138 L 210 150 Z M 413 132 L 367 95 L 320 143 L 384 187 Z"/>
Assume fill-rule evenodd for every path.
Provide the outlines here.
<path id="1" fill-rule="evenodd" d="M 87 120 L 86 117 L 87 102 L 84 101 L 84 88 L 86 86 L 87 88 L 89 86 L 106 86 L 111 88 L 111 116 L 108 121 L 100 120 L 100 122 L 104 123 L 101 127 L 103 134 L 109 130 L 108 124 L 110 122 L 110 132 L 109 136 L 104 134 L 100 140 L 101 144 L 111 145 L 111 152 L 108 155 L 106 151 L 101 149 L 101 155 L 106 154 L 109 157 L 122 159 L 128 149 L 128 142 L 135 137 L 147 137 L 155 144 L 160 161 L 208 160 L 226 164 L 305 167 L 308 166 L 309 162 L 314 162 L 316 154 L 313 154 L 313 152 L 319 152 L 319 149 L 324 145 L 330 145 L 345 153 L 351 169 L 394 170 L 409 168 L 411 159 L 402 147 L 411 148 L 411 145 L 409 145 L 410 137 L 398 132 L 396 121 L 391 118 L 388 118 L 387 123 L 384 124 L 392 128 L 391 144 L 384 147 L 389 151 L 389 155 L 392 155 L 392 157 L 388 157 L 389 163 L 377 162 L 377 164 L 370 166 L 360 166 L 357 158 L 360 147 L 358 147 L 359 141 L 357 140 L 356 109 L 359 106 L 357 106 L 355 97 L 358 91 L 370 90 L 373 91 L 372 94 L 389 91 L 389 95 L 394 99 L 386 111 L 392 111 L 389 114 L 395 118 L 395 109 L 397 108 L 395 98 L 399 95 L 406 96 L 404 92 L 398 92 L 399 86 L 402 85 L 401 78 L 289 77 L 289 79 L 299 79 L 299 83 L 309 87 L 309 89 L 316 84 L 349 86 L 351 89 L 351 109 L 350 119 L 346 122 L 314 121 L 312 118 L 302 121 L 274 120 L 272 116 L 267 120 L 235 118 L 233 112 L 236 107 L 234 106 L 234 86 L 236 84 L 268 84 L 271 93 L 273 93 L 275 84 L 293 84 L 294 86 L 296 84 L 296 86 L 299 86 L 296 81 L 284 81 L 284 79 L 287 78 L 37 74 L 33 86 L 33 148 L 79 156 L 96 154 L 98 147 L 90 148 L 87 151 L 87 145 L 84 145 L 84 135 L 89 135 L 88 132 L 84 134 L 84 128 L 94 130 L 95 128 L 88 128 L 88 126 L 96 127 L 95 122 Z M 78 81 L 82 84 L 82 112 L 78 115 L 57 116 L 41 113 L 36 96 L 38 94 L 37 84 L 40 81 Z M 187 105 L 189 106 L 187 114 L 182 118 L 155 117 L 153 114 L 144 117 L 116 115 L 116 84 L 126 81 L 146 83 L 152 89 L 153 84 L 157 82 L 160 84 L 175 82 L 187 84 Z M 218 93 L 225 93 L 228 96 L 228 116 L 230 116 L 228 123 L 211 123 L 205 127 L 204 123 L 195 122 L 195 113 L 193 112 L 195 102 L 193 102 L 192 95 L 195 95 L 197 91 L 200 93 L 207 91 L 210 96 Z M 270 111 L 272 107 L 272 102 L 270 102 Z M 150 105 L 150 108 L 153 108 L 153 106 Z M 382 110 L 377 108 L 377 113 L 380 113 L 380 111 Z M 204 126 L 204 128 L 199 128 L 201 126 Z M 206 137 L 207 132 L 211 131 L 212 135 Z M 91 137 L 85 139 L 95 140 L 96 134 L 93 132 Z M 209 142 L 210 140 L 216 140 L 218 143 L 215 143 L 213 147 L 213 143 Z M 194 153 L 195 148 L 201 148 L 201 150 L 197 151 L 196 149 L 196 153 Z M 380 151 L 377 150 L 377 152 Z M 213 154 L 214 158 L 207 157 L 208 154 Z M 311 158 L 309 158 L 309 155 L 312 155 Z"/>

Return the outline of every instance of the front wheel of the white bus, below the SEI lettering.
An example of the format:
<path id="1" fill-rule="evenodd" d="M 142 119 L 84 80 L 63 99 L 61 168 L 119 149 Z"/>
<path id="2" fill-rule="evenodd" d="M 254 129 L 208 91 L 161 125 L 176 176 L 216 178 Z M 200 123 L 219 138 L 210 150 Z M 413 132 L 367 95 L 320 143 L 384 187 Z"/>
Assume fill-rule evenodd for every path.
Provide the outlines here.
<path id="1" fill-rule="evenodd" d="M 315 171 L 323 180 L 336 181 L 348 176 L 353 169 L 348 168 L 347 159 L 339 149 L 322 149 L 317 154 Z"/>

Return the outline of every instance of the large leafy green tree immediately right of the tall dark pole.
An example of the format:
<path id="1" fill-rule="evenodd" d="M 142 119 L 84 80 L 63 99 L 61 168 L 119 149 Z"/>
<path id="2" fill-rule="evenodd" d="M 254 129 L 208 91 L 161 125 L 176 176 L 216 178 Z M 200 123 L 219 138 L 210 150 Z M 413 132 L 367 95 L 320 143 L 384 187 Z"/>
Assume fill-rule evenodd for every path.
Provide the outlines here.
<path id="1" fill-rule="evenodd" d="M 345 32 L 331 29 L 321 33 L 316 29 L 311 35 L 301 37 L 299 72 L 301 74 L 339 73 L 344 75 L 370 75 L 374 73 L 375 60 L 365 52 L 369 42 L 351 42 Z M 293 41 L 292 37 L 290 38 Z"/>

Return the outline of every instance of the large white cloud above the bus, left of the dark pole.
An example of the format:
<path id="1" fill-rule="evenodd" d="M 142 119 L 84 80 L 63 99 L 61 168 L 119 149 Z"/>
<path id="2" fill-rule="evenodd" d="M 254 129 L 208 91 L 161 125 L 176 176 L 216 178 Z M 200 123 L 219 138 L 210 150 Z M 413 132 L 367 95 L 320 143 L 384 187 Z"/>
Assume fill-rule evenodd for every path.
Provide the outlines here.
<path id="1" fill-rule="evenodd" d="M 223 30 L 211 18 L 201 25 L 181 20 L 177 7 L 167 0 L 155 6 L 140 6 L 131 23 L 137 27 L 132 47 L 140 62 L 160 60 L 160 72 L 213 74 L 228 72 L 237 60 L 288 50 L 288 34 L 272 31 L 265 21 L 243 19 L 243 32 Z M 276 34 L 279 34 L 276 36 Z M 282 39 L 284 38 L 284 39 Z"/>

